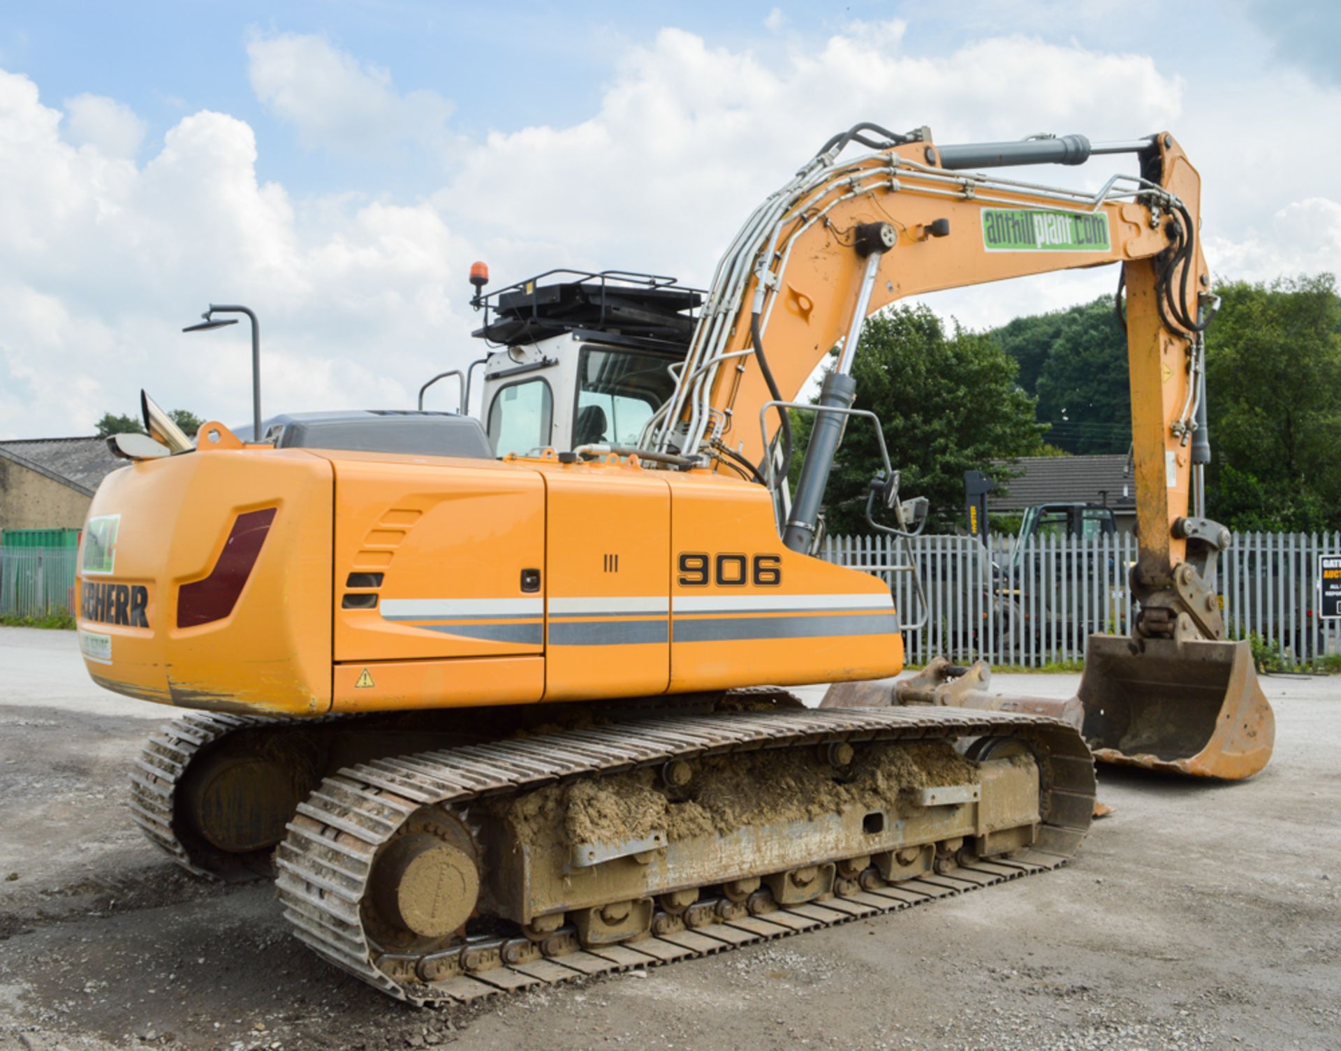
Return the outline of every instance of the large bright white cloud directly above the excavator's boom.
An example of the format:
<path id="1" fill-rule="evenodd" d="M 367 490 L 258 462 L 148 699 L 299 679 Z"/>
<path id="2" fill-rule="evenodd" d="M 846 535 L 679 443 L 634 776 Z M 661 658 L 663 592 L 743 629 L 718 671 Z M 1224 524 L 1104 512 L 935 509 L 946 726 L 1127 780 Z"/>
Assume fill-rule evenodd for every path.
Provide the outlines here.
<path id="1" fill-rule="evenodd" d="M 754 205 L 857 121 L 894 130 L 925 123 L 941 142 L 1043 130 L 1132 138 L 1173 122 L 1181 105 L 1181 82 L 1147 56 L 1018 36 L 931 56 L 901 50 L 904 31 L 902 21 L 860 24 L 766 62 L 662 29 L 620 63 L 591 118 L 489 135 L 465 154 L 434 204 L 464 217 L 461 204 L 469 202 L 510 237 L 555 241 L 565 263 L 701 283 Z M 1085 178 L 1070 169 L 1047 177 L 1054 173 Z M 496 206 L 485 209 L 489 201 Z M 1113 282 L 1063 280 L 1071 291 L 1059 294 L 1059 304 Z M 947 308 L 987 323 L 1054 304 L 1046 291 L 1027 291 L 1045 286 L 1023 287 L 1023 299 L 1019 288 L 955 294 Z"/>

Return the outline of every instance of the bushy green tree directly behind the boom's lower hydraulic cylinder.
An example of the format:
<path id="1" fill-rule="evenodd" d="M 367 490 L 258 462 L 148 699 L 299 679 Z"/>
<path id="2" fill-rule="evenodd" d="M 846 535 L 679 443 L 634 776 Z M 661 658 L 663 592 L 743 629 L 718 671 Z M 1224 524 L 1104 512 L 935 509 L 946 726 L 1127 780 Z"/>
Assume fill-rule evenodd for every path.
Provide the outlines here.
<path id="1" fill-rule="evenodd" d="M 1015 383 L 1018 366 L 987 334 L 955 326 L 947 332 L 927 307 L 897 307 L 870 318 L 853 363 L 856 408 L 882 424 L 902 496 L 931 500 L 928 530 L 959 524 L 964 472 L 991 471 L 994 460 L 1042 452 L 1046 428 L 1034 422 L 1034 399 Z M 797 413 L 793 472 L 799 472 L 814 413 Z M 880 469 L 874 429 L 853 420 L 825 492 L 831 534 L 866 531 L 866 491 Z"/>

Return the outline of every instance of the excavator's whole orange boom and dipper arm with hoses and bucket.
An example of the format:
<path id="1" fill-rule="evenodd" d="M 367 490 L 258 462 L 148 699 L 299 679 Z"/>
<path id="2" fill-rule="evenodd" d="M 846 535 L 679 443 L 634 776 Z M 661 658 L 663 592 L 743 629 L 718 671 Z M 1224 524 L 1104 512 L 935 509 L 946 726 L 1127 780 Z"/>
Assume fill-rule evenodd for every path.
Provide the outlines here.
<path id="1" fill-rule="evenodd" d="M 854 138 L 884 147 L 841 161 Z M 1114 174 L 1081 192 L 960 170 L 1070 165 L 1096 153 L 1136 153 L 1140 176 Z M 795 493 L 778 501 L 783 542 L 811 551 L 870 312 L 943 288 L 1121 263 L 1140 535 L 1132 590 L 1141 609 L 1133 638 L 1090 641 L 1086 736 L 1108 761 L 1247 776 L 1270 757 L 1271 710 L 1246 643 L 1223 641 L 1215 568 L 1228 532 L 1204 517 L 1200 499 L 1192 505 L 1208 460 L 1202 332 L 1214 306 L 1199 206 L 1200 177 L 1167 133 L 940 149 L 925 129 L 835 137 L 755 210 L 723 256 L 676 394 L 644 444 L 723 471 L 772 457 L 776 469 L 760 473 L 784 479 L 786 417 L 762 429 L 754 421 L 794 398 L 838 347 Z"/>

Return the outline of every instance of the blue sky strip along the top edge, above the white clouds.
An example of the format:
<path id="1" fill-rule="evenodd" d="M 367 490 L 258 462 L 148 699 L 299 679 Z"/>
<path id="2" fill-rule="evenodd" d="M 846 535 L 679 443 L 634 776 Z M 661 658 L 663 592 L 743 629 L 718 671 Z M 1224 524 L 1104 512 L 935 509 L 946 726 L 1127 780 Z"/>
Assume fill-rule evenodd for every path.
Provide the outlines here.
<path id="1" fill-rule="evenodd" d="M 1121 13 L 1125 11 L 1125 15 Z M 774 12 L 776 12 L 774 15 Z M 1159 29 L 1152 32 L 1157 13 Z M 770 28 L 770 15 L 778 23 Z M 452 123 L 480 137 L 526 125 L 567 125 L 598 105 L 618 56 L 664 25 L 764 55 L 790 39 L 819 40 L 853 21 L 898 17 L 912 51 L 936 54 L 971 36 L 1027 32 L 1106 51 L 1156 56 L 1192 79 L 1251 78 L 1275 64 L 1337 82 L 1341 4 L 1051 3 L 35 3 L 0 32 L 0 67 L 28 74 L 52 99 L 83 92 L 129 105 L 150 126 L 145 147 L 198 109 L 247 121 L 263 178 L 338 192 L 426 189 L 404 157 L 338 158 L 304 149 L 256 98 L 247 43 L 315 34 L 386 70 L 402 91 L 451 99 Z M 1188 42 L 1196 42 L 1189 47 Z M 1227 75 L 1228 74 L 1228 75 Z"/>

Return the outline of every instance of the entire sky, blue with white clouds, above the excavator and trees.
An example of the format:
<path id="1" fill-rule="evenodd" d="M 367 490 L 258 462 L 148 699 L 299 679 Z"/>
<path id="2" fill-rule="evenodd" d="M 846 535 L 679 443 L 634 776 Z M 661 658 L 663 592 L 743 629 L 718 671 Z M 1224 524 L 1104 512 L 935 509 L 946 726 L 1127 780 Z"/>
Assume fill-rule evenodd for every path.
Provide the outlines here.
<path id="1" fill-rule="evenodd" d="M 209 299 L 263 311 L 275 409 L 408 404 L 473 355 L 473 257 L 703 282 L 862 118 L 940 141 L 1169 127 L 1218 272 L 1337 269 L 1337 39 L 1341 4 L 1258 0 L 11 8 L 0 437 L 79 433 L 141 385 L 245 417 L 245 355 L 177 332 Z M 932 304 L 983 326 L 1110 283 Z"/>

